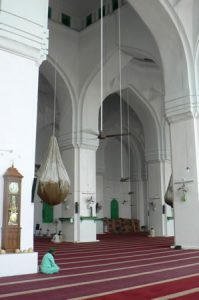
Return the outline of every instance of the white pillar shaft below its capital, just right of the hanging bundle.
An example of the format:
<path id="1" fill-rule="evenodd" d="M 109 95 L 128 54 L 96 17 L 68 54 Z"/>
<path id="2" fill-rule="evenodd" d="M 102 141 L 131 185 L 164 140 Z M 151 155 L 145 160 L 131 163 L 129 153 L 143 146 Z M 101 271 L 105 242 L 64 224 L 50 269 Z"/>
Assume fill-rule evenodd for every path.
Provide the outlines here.
<path id="1" fill-rule="evenodd" d="M 76 146 L 63 151 L 71 179 L 68 209 L 63 210 L 66 241 L 96 241 L 96 147 Z"/>

